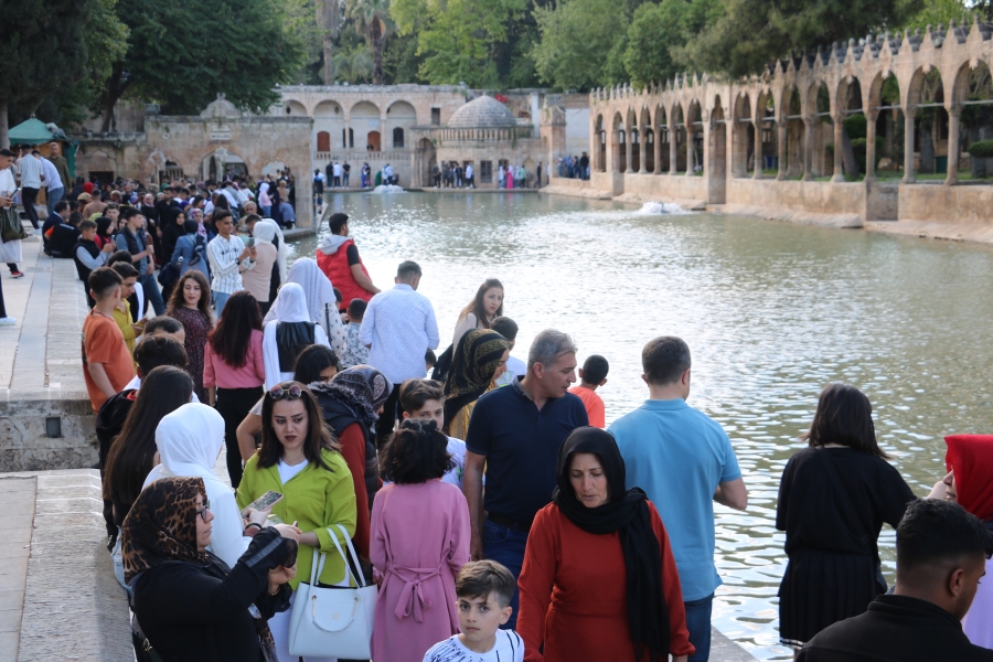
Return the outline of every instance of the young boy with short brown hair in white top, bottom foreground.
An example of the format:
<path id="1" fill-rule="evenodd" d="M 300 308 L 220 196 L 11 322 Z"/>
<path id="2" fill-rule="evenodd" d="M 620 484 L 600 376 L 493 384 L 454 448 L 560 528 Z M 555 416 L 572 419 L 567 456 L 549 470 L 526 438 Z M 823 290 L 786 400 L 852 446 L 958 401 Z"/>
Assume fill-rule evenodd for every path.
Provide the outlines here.
<path id="1" fill-rule="evenodd" d="M 424 662 L 523 662 L 524 640 L 513 630 L 501 630 L 511 615 L 514 576 L 493 560 L 467 563 L 456 577 L 459 629 L 433 645 Z"/>

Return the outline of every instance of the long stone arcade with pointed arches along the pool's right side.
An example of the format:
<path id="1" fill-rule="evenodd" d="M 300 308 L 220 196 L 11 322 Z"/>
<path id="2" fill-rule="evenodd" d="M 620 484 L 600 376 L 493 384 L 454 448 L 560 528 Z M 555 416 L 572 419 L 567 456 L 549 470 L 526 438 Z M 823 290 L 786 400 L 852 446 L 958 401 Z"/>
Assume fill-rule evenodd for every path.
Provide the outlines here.
<path id="1" fill-rule="evenodd" d="M 961 173 L 964 143 L 993 138 L 984 135 L 989 127 L 963 125 L 973 107 L 993 104 L 991 35 L 993 25 L 974 19 L 850 40 L 750 79 L 682 75 L 641 90 L 595 89 L 591 179 L 553 184 L 728 211 L 789 210 L 851 225 L 987 224 L 993 185 Z M 843 127 L 855 116 L 864 117 L 865 131 L 857 174 L 844 163 Z"/>

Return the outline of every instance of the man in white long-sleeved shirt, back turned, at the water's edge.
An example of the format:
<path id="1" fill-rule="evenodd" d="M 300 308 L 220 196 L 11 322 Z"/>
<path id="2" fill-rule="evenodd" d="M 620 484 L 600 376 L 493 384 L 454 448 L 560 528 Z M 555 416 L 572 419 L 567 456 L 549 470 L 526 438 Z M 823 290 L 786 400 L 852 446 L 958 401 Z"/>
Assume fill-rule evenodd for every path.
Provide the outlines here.
<path id="1" fill-rule="evenodd" d="M 376 423 L 380 448 L 396 424 L 401 384 L 424 376 L 424 355 L 436 349 L 440 340 L 435 309 L 427 297 L 417 293 L 420 275 L 417 263 L 401 263 L 394 278 L 396 285 L 370 300 L 359 329 L 359 339 L 370 348 L 369 364 L 394 384 Z"/>

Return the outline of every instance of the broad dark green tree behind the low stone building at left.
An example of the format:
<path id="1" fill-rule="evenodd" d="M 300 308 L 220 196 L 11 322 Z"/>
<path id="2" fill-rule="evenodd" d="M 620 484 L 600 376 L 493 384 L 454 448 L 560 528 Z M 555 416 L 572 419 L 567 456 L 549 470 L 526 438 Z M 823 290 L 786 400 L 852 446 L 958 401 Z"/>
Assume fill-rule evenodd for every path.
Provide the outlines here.
<path id="1" fill-rule="evenodd" d="M 279 99 L 276 83 L 295 72 L 301 44 L 282 13 L 265 0 L 205 0 L 190 20 L 183 0 L 119 0 L 130 29 L 128 52 L 114 65 L 103 96 L 103 130 L 125 94 L 195 114 L 223 92 L 244 110 L 265 113 Z M 175 26 L 183 31 L 177 32 Z"/>

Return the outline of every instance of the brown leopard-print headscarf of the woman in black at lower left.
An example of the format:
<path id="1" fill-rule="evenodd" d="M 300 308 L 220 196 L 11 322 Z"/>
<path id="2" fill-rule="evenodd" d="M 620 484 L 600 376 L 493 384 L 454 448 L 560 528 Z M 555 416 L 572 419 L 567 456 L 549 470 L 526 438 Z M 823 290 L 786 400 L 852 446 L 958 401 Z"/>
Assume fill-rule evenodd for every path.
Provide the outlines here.
<path id="1" fill-rule="evenodd" d="M 121 525 L 125 581 L 167 560 L 207 565 L 196 547 L 196 495 L 206 501 L 200 478 L 163 478 L 138 495 Z"/>

